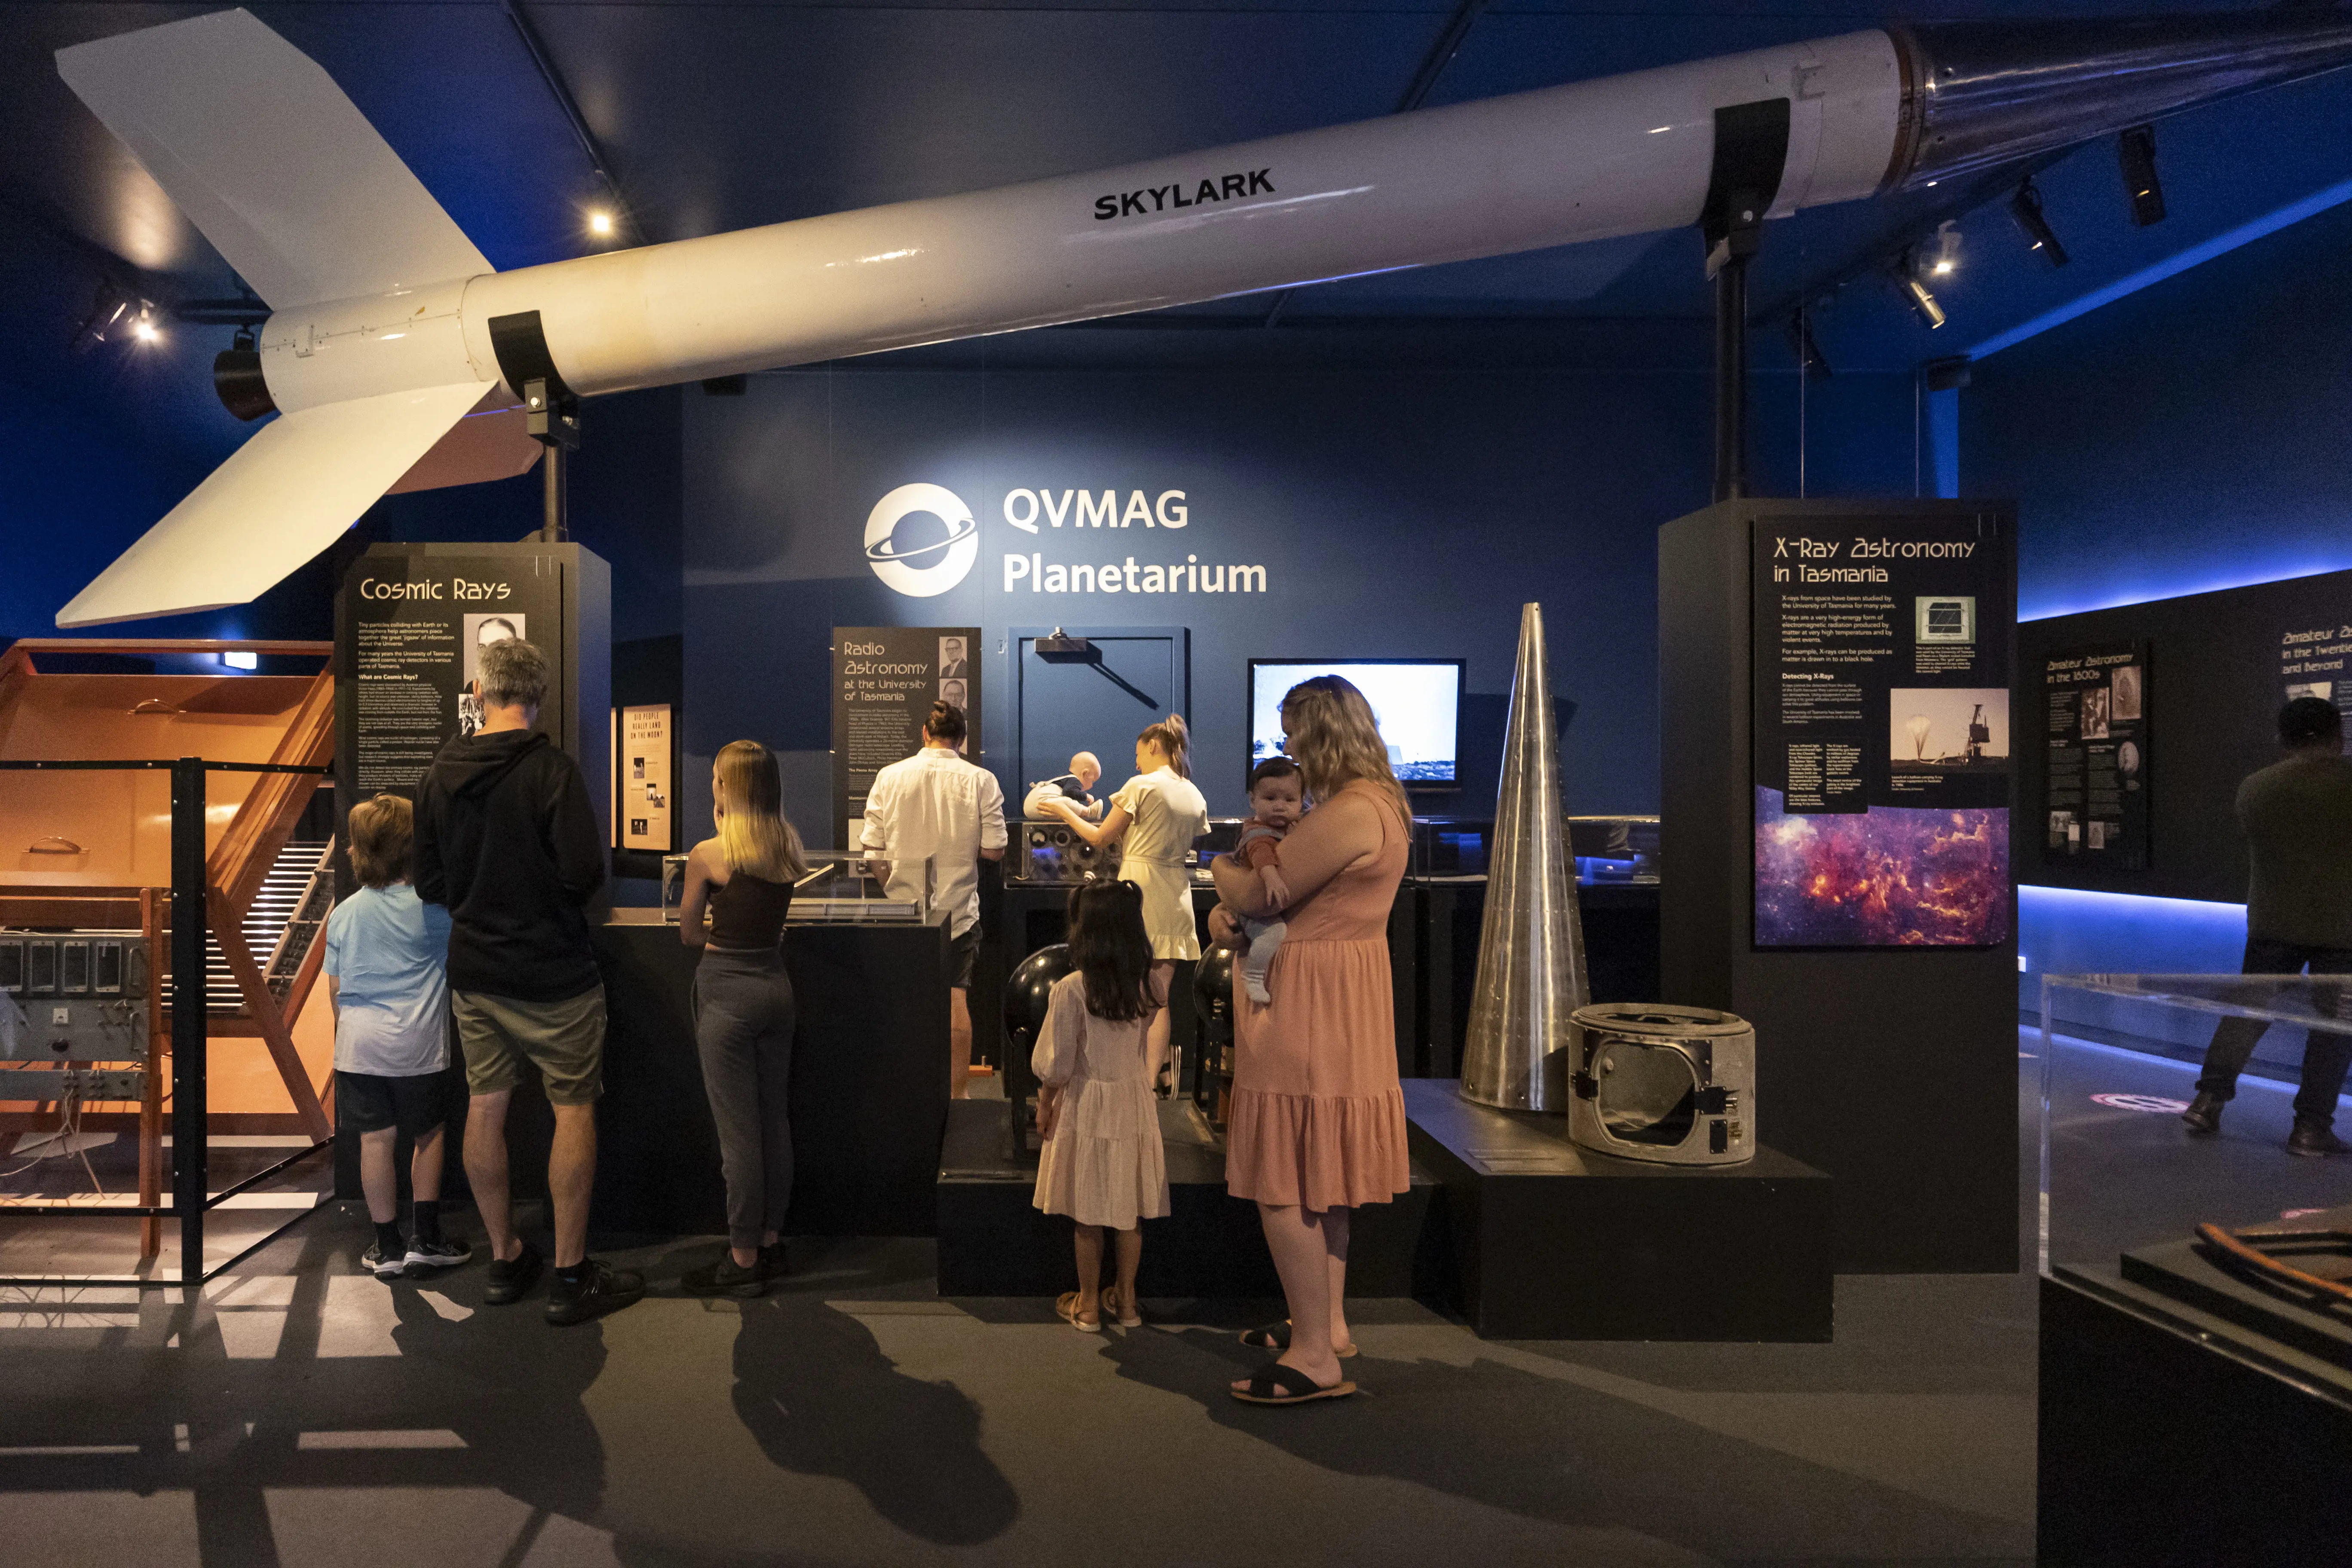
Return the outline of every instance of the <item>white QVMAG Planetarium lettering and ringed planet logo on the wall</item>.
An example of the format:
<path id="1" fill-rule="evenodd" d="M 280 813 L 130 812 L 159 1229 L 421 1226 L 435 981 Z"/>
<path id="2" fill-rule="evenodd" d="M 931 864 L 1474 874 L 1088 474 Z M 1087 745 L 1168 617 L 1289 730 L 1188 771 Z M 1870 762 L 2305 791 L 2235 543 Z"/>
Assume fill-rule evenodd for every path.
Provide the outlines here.
<path id="1" fill-rule="evenodd" d="M 1007 550 L 1002 559 L 1004 592 L 1037 595 L 1197 595 L 1265 592 L 1263 562 L 1202 559 L 1200 550 L 1178 550 L 1171 534 L 1192 527 L 1192 508 L 1181 489 L 1117 487 L 1094 489 L 1011 489 L 1000 508 L 1007 527 L 1040 538 L 1040 548 Z M 1058 559 L 1044 548 L 1068 529 L 1080 536 L 1129 543 L 1124 557 Z M 1183 541 L 1190 543 L 1190 541 Z M 957 588 L 981 557 L 981 524 L 964 498 L 943 484 L 901 484 L 866 515 L 866 564 L 894 592 L 929 599 Z"/>

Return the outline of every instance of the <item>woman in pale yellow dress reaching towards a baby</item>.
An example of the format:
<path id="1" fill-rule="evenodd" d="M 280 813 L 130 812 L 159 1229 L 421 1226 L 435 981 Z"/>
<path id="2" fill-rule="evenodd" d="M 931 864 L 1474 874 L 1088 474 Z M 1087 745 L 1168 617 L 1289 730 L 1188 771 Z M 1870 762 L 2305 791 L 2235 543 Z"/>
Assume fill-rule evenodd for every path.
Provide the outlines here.
<path id="1" fill-rule="evenodd" d="M 1190 731 L 1183 715 L 1171 712 L 1136 736 L 1136 776 L 1120 785 L 1101 823 L 1089 823 L 1070 802 L 1037 802 L 1070 832 L 1094 846 L 1120 846 L 1120 882 L 1143 891 L 1143 929 L 1152 938 L 1152 985 L 1160 994 L 1176 976 L 1176 959 L 1200 957 L 1200 931 L 1192 924 L 1192 867 L 1183 863 L 1192 839 L 1209 830 L 1209 802 L 1192 788 Z M 1150 1072 L 1169 1060 L 1169 1013 L 1152 1018 Z"/>

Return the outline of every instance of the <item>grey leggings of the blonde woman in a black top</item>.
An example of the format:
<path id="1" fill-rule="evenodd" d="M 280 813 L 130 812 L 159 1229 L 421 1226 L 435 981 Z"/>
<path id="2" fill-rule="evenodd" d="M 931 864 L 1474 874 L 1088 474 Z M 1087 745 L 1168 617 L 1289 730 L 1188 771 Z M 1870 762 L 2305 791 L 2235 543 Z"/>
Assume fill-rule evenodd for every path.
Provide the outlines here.
<path id="1" fill-rule="evenodd" d="M 727 1175 L 727 1244 L 783 1234 L 793 1201 L 793 980 L 781 952 L 703 947 L 694 971 L 694 1046 Z"/>

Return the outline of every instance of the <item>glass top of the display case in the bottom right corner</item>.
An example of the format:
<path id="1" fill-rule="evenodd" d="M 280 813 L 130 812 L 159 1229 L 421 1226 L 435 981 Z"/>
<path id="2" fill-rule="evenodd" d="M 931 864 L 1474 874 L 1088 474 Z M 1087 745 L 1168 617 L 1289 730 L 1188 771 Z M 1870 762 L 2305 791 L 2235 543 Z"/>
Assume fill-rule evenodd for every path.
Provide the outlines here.
<path id="1" fill-rule="evenodd" d="M 2277 1032 L 2331 1077 L 2352 980 L 2044 976 L 2039 1262 L 2352 1399 L 2352 1192 L 2340 1161 L 2288 1152 L 2296 1084 L 2241 1074 L 2218 1128 L 2183 1121 L 2216 1041 L 2244 1060 Z"/>

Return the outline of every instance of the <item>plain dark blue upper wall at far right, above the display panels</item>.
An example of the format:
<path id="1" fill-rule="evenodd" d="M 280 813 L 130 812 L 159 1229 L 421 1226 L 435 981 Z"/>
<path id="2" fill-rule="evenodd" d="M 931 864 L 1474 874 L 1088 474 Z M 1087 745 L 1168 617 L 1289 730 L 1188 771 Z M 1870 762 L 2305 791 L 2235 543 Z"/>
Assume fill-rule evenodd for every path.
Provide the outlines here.
<path id="1" fill-rule="evenodd" d="M 2018 498 L 2018 614 L 2352 567 L 2352 207 L 1978 362 L 1962 480 Z"/>

